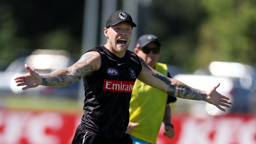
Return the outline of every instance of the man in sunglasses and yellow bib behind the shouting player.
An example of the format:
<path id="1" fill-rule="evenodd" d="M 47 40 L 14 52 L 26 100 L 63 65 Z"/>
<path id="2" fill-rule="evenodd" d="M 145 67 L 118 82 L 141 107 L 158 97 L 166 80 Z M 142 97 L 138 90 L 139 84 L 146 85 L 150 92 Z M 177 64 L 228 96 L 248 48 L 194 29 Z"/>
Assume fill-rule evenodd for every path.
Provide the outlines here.
<path id="1" fill-rule="evenodd" d="M 137 41 L 135 54 L 139 55 L 151 68 L 171 78 L 167 65 L 158 63 L 160 57 L 160 42 L 155 35 L 142 35 Z M 130 133 L 134 144 L 156 143 L 161 123 L 165 125 L 164 135 L 173 138 L 174 130 L 171 124 L 170 102 L 176 97 L 169 96 L 161 90 L 145 83 L 135 81 L 130 101 L 130 122 L 126 133 Z"/>

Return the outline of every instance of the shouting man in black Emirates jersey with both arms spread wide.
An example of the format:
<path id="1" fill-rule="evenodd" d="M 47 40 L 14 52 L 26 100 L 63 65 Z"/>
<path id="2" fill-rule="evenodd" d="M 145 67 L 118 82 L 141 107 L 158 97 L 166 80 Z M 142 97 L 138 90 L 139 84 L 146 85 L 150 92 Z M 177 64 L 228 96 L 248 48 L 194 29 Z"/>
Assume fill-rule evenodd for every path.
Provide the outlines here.
<path id="1" fill-rule="evenodd" d="M 106 20 L 104 34 L 107 43 L 85 52 L 74 65 L 39 75 L 25 65 L 28 74 L 15 81 L 22 89 L 63 87 L 83 79 L 85 100 L 81 124 L 72 144 L 132 144 L 126 129 L 129 123 L 129 103 L 135 80 L 160 89 L 175 97 L 204 100 L 225 111 L 229 98 L 219 94 L 219 83 L 209 91 L 193 89 L 184 83 L 163 76 L 150 68 L 143 59 L 127 50 L 136 24 L 125 11 L 115 11 Z"/>

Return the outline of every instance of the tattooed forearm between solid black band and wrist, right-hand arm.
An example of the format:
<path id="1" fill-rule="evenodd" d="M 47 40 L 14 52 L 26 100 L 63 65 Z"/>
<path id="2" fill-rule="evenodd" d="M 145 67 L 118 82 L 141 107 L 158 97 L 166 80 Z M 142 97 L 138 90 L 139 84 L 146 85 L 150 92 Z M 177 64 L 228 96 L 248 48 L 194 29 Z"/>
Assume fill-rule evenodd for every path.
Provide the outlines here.
<path id="1" fill-rule="evenodd" d="M 178 86 L 178 97 L 185 98 L 190 100 L 205 100 L 206 94 L 203 91 L 193 89 L 186 85 L 179 85 Z"/>

